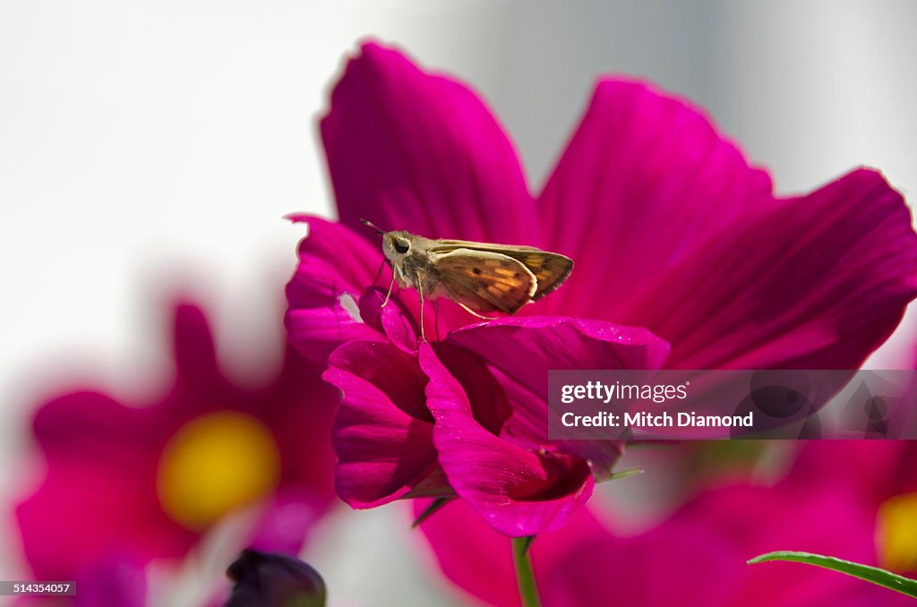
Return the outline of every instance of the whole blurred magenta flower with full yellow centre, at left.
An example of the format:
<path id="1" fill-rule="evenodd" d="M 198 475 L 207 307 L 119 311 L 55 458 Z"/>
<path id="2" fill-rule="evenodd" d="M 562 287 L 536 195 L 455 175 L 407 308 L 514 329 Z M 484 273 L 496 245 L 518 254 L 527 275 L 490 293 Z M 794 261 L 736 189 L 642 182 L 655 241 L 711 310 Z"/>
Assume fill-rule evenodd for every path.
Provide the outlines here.
<path id="1" fill-rule="evenodd" d="M 242 508 L 260 508 L 254 545 L 295 554 L 334 499 L 337 395 L 315 363 L 289 351 L 269 385 L 240 388 L 191 304 L 176 308 L 174 355 L 174 384 L 156 403 L 84 391 L 39 409 L 47 476 L 16 511 L 36 579 L 76 579 L 84 596 L 126 579 L 136 594 L 145 564 L 182 557 Z"/>

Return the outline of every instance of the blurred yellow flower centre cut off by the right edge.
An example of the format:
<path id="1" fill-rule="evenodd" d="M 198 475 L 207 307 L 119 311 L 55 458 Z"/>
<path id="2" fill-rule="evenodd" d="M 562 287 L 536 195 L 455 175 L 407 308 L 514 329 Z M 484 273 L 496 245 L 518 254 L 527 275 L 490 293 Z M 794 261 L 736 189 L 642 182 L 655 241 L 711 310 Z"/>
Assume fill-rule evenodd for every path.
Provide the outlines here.
<path id="1" fill-rule="evenodd" d="M 897 495 L 879 506 L 877 533 L 882 567 L 917 570 L 917 492 Z"/>

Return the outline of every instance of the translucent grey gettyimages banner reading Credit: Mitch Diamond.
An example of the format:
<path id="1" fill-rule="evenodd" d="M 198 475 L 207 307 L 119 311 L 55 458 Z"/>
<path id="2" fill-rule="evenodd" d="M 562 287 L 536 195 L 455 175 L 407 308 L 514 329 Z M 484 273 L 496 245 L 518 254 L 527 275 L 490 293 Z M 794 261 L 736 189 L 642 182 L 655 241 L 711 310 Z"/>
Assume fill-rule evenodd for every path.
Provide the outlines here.
<path id="1" fill-rule="evenodd" d="M 917 438 L 913 370 L 552 370 L 552 439 Z"/>

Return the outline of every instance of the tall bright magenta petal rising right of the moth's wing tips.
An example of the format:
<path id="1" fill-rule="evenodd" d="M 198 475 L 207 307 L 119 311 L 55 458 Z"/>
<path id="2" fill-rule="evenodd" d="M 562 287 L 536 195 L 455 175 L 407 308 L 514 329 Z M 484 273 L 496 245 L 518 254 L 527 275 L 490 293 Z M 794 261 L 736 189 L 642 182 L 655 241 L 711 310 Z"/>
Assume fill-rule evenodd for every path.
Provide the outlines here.
<path id="1" fill-rule="evenodd" d="M 649 84 L 608 80 L 540 203 L 548 248 L 576 261 L 544 313 L 637 325 L 619 312 L 691 249 L 769 204 L 770 180 L 701 111 Z"/>

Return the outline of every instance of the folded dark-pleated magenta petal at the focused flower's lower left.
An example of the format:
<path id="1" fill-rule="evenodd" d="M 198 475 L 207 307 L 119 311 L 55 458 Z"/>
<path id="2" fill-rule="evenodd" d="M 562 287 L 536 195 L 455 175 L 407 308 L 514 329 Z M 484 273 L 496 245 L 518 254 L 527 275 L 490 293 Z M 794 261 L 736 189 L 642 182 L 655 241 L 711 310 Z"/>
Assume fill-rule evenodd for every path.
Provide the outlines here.
<path id="1" fill-rule="evenodd" d="M 450 493 L 436 464 L 426 378 L 388 342 L 355 341 L 328 359 L 325 379 L 344 393 L 332 443 L 337 494 L 354 508 Z"/>

